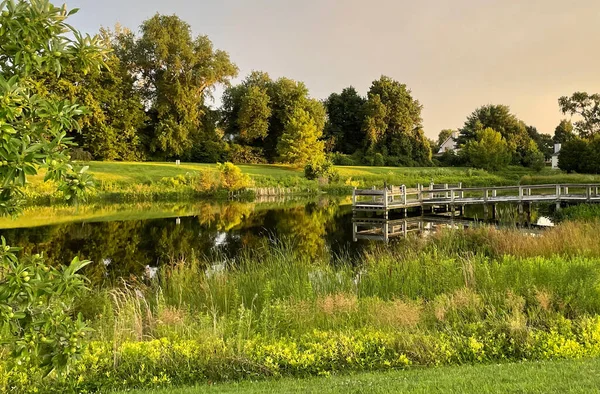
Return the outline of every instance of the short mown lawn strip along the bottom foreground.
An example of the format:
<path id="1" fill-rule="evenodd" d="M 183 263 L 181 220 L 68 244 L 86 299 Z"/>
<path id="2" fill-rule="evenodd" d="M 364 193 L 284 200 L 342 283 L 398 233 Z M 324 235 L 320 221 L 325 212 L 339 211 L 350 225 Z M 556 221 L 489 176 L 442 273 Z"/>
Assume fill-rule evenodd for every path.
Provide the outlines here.
<path id="1" fill-rule="evenodd" d="M 281 379 L 128 391 L 131 394 L 198 393 L 598 393 L 600 359 L 465 365 L 362 373 L 330 378 Z"/>

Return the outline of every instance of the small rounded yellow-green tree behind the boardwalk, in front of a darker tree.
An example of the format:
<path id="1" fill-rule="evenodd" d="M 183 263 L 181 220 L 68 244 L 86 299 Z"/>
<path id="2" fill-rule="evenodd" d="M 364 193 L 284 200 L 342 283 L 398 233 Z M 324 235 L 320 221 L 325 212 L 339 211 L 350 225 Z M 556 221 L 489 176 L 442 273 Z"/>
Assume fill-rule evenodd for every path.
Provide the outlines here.
<path id="1" fill-rule="evenodd" d="M 505 168 L 511 160 L 510 148 L 500 134 L 491 128 L 477 131 L 461 150 L 466 160 L 476 168 L 497 171 Z"/>

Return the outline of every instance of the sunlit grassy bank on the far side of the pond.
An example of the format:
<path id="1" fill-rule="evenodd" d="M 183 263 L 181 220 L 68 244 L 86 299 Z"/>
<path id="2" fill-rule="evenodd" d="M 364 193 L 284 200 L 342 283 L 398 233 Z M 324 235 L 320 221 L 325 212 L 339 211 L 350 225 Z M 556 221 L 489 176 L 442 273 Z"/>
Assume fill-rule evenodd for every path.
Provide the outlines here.
<path id="1" fill-rule="evenodd" d="M 198 198 L 227 198 L 227 192 L 207 193 L 189 182 L 189 177 L 216 171 L 214 164 L 91 162 L 90 173 L 97 180 L 97 190 L 90 201 L 174 201 Z M 531 173 L 521 167 L 511 167 L 497 173 L 471 168 L 408 168 L 408 167 L 343 167 L 336 169 L 340 180 L 328 185 L 304 178 L 303 170 L 284 165 L 240 165 L 255 188 L 285 188 L 295 194 L 316 194 L 322 191 L 348 194 L 352 187 L 393 185 L 415 186 L 418 183 L 456 184 L 464 186 L 516 185 L 540 183 L 598 182 L 600 176 L 566 175 L 552 170 Z M 42 184 L 40 174 L 32 178 L 27 189 L 30 201 L 42 204 L 60 200 L 52 184 Z M 188 178 L 186 178 L 188 177 Z M 251 195 L 247 196 L 251 198 Z"/>

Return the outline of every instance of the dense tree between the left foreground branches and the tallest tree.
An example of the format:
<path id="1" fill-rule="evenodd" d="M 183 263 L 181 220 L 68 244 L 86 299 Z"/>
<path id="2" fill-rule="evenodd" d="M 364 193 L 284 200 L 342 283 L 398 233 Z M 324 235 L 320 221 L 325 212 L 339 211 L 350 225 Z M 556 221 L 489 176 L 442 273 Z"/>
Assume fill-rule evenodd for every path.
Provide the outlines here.
<path id="1" fill-rule="evenodd" d="M 107 48 L 114 35 L 103 30 Z M 68 133 L 79 147 L 100 160 L 140 160 L 144 156 L 139 130 L 146 115 L 136 92 L 133 77 L 120 59 L 109 53 L 105 67 L 82 72 L 68 64 L 60 76 L 45 72 L 39 80 L 40 91 L 58 98 L 77 100 L 87 112 L 79 119 L 80 130 Z"/>

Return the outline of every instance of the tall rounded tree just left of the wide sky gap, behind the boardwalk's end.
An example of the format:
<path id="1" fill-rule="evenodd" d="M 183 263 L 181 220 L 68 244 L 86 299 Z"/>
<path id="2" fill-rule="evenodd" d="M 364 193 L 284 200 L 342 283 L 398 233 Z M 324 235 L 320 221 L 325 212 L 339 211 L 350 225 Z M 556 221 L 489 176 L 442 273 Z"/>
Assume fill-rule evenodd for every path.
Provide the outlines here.
<path id="1" fill-rule="evenodd" d="M 404 163 L 430 163 L 431 147 L 423 133 L 421 110 L 406 85 L 386 76 L 373 81 L 364 123 L 368 149 Z"/>

